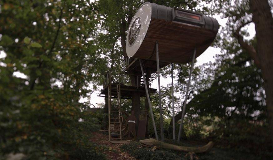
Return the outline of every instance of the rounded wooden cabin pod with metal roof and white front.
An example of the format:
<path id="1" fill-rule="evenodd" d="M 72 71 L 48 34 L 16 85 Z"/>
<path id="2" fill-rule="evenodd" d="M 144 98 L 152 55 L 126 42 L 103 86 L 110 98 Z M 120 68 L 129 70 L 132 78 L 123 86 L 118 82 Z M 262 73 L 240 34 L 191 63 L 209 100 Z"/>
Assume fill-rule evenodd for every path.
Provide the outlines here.
<path id="1" fill-rule="evenodd" d="M 218 28 L 216 19 L 203 14 L 146 2 L 129 25 L 127 56 L 155 61 L 157 41 L 160 62 L 188 63 L 195 47 L 198 57 L 210 46 Z"/>

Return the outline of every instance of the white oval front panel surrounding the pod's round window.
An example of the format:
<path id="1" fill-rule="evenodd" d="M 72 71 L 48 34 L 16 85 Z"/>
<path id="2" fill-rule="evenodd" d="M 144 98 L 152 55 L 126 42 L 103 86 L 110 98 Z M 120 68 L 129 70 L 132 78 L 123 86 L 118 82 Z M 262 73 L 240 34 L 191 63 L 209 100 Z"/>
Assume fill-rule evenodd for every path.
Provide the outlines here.
<path id="1" fill-rule="evenodd" d="M 146 33 L 148 31 L 150 22 L 151 22 L 151 14 L 152 14 L 152 7 L 150 3 L 144 3 L 137 11 L 134 17 L 131 20 L 130 27 L 128 29 L 128 32 L 131 30 L 132 24 L 135 23 L 137 18 L 140 18 L 141 20 L 141 26 L 140 31 L 138 33 L 137 38 L 132 43 L 132 45 L 129 44 L 129 34 L 127 34 L 127 41 L 126 41 L 126 53 L 128 57 L 133 57 L 139 47 L 141 46 Z"/>

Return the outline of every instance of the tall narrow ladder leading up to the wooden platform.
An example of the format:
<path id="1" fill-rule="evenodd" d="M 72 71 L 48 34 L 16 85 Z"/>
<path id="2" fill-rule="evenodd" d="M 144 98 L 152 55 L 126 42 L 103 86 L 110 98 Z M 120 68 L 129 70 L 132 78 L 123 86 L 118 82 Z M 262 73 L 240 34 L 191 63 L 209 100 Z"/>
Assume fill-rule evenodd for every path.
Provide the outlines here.
<path id="1" fill-rule="evenodd" d="M 122 140 L 121 128 L 121 93 L 120 82 L 112 85 L 111 72 L 107 73 L 108 81 L 108 136 L 109 141 Z"/>

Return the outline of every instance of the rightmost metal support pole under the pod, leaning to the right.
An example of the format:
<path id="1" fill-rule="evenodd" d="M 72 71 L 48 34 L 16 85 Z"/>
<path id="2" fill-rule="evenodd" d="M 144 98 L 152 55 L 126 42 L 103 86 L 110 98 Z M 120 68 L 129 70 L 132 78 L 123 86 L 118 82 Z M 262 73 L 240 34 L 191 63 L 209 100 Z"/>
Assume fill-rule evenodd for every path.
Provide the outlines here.
<path id="1" fill-rule="evenodd" d="M 190 88 L 190 83 L 191 83 L 191 74 L 192 74 L 192 70 L 193 70 L 193 66 L 194 66 L 194 60 L 195 60 L 195 54 L 196 54 L 196 48 L 193 51 L 193 56 L 192 56 L 192 61 L 191 61 L 191 70 L 190 70 L 190 76 L 189 76 L 189 80 L 187 83 L 187 89 L 186 89 L 186 97 L 185 97 L 185 103 L 183 106 L 183 111 L 182 111 L 182 116 L 181 116 L 181 123 L 179 126 L 179 133 L 178 133 L 178 138 L 177 138 L 177 142 L 180 141 L 181 138 L 181 132 L 182 132 L 182 126 L 183 126 L 183 119 L 185 116 L 185 111 L 186 111 L 186 104 L 187 104 L 187 99 L 188 99 L 188 93 L 189 93 L 189 88 Z"/>

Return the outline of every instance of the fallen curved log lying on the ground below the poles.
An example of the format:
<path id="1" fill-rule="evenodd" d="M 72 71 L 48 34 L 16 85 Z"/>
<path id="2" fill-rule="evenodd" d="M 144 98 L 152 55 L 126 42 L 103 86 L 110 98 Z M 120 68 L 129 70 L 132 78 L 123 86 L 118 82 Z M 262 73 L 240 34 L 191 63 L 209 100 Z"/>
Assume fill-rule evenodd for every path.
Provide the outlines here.
<path id="1" fill-rule="evenodd" d="M 194 152 L 194 153 L 209 152 L 211 150 L 211 148 L 213 147 L 212 141 L 208 142 L 208 144 L 206 144 L 205 146 L 202 146 L 202 147 L 176 146 L 173 144 L 157 141 L 153 138 L 140 140 L 139 142 L 141 143 L 141 145 L 144 145 L 147 147 L 156 146 L 156 147 L 161 147 L 161 148 L 166 148 L 166 149 L 171 149 L 171 150 L 176 150 L 176 151 Z"/>

